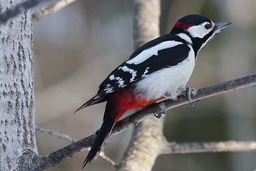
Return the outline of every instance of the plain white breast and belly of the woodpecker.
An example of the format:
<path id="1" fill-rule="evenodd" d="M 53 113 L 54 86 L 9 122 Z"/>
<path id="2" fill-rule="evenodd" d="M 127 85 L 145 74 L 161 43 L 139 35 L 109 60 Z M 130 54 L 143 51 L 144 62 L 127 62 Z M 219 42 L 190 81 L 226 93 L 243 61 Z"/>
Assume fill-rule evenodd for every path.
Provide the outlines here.
<path id="1" fill-rule="evenodd" d="M 162 68 L 151 73 L 135 85 L 135 93 L 148 100 L 158 99 L 165 95 L 175 99 L 180 88 L 184 88 L 195 66 L 195 53 L 190 47 L 188 58 L 176 66 Z"/>

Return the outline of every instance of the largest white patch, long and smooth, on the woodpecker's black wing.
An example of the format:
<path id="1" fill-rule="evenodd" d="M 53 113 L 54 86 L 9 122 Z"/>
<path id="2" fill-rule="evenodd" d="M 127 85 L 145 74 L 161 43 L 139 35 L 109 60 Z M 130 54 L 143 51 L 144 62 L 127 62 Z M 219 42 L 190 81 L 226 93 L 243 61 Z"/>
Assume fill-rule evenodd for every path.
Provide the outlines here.
<path id="1" fill-rule="evenodd" d="M 183 44 L 183 43 L 179 41 L 163 41 L 162 43 L 159 43 L 151 48 L 145 49 L 144 51 L 139 53 L 138 56 L 135 56 L 134 58 L 126 61 L 126 63 L 138 65 L 139 63 L 143 63 L 153 55 L 158 56 L 158 51 L 163 50 L 165 48 L 172 48 L 180 44 Z"/>

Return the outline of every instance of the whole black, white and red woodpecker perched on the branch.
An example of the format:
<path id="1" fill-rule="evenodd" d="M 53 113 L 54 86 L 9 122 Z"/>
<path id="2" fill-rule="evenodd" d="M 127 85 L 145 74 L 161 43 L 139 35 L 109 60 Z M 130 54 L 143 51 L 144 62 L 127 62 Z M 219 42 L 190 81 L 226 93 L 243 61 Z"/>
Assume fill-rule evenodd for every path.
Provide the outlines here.
<path id="1" fill-rule="evenodd" d="M 145 43 L 113 70 L 98 93 L 78 108 L 107 101 L 103 124 L 83 167 L 103 150 L 113 126 L 126 111 L 144 108 L 163 98 L 175 100 L 190 78 L 200 49 L 230 24 L 213 23 L 195 14 L 184 16 L 170 33 Z"/>

